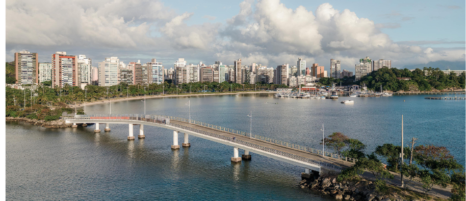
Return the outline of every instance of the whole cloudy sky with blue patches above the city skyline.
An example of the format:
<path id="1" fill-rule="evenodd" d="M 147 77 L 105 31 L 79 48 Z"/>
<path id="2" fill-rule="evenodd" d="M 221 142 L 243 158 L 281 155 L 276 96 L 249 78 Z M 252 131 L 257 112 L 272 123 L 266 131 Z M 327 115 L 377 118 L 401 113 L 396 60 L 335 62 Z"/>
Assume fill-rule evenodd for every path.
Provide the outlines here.
<path id="1" fill-rule="evenodd" d="M 333 58 L 350 71 L 366 56 L 397 68 L 464 61 L 464 0 L 420 2 L 7 0 L 6 61 L 21 50 L 40 62 L 66 51 L 165 68 L 177 58 L 274 68 L 298 57 L 327 68 Z"/>

